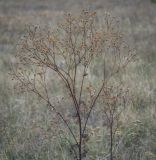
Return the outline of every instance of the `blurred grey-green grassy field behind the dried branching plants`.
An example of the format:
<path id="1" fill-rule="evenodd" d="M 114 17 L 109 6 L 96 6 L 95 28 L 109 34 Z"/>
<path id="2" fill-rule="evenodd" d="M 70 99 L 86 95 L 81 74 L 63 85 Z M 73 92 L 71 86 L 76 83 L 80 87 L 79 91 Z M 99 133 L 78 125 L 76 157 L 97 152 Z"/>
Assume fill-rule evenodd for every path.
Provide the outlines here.
<path id="1" fill-rule="evenodd" d="M 97 11 L 98 23 L 105 11 L 120 17 L 128 43 L 137 50 L 123 79 L 131 89 L 132 103 L 121 115 L 116 147 L 118 160 L 156 159 L 156 5 L 150 0 L 1 0 L 0 1 L 0 159 L 68 160 L 70 146 L 64 136 L 56 139 L 54 120 L 37 97 L 19 94 L 8 75 L 16 44 L 26 25 L 54 27 L 64 12 L 82 8 Z M 98 76 L 98 69 L 93 73 Z M 94 79 L 92 79 L 94 81 Z M 51 90 L 56 95 L 61 86 Z M 96 117 L 94 118 L 96 121 Z M 101 122 L 102 123 L 102 122 Z M 100 127 L 99 127 L 100 126 Z M 90 128 L 89 157 L 107 159 L 108 133 L 99 124 Z M 74 126 L 73 126 L 74 127 Z M 59 131 L 61 132 L 61 131 Z M 67 135 L 68 136 L 68 135 Z M 70 138 L 70 137 L 69 137 Z M 64 149 L 65 148 L 65 149 Z"/>

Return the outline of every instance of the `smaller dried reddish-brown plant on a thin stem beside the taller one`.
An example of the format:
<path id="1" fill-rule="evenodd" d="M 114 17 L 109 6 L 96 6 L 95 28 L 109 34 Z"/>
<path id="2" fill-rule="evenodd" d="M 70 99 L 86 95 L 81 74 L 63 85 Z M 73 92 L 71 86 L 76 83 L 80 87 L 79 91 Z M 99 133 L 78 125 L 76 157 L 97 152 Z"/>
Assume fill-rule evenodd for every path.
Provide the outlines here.
<path id="1" fill-rule="evenodd" d="M 104 113 L 104 124 L 109 129 L 110 136 L 110 159 L 113 160 L 113 150 L 116 132 L 118 131 L 121 113 L 126 109 L 129 102 L 129 90 L 121 83 L 117 86 L 104 87 L 100 97 L 101 109 Z"/>

